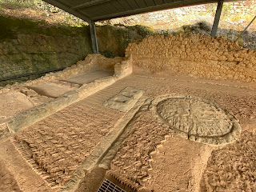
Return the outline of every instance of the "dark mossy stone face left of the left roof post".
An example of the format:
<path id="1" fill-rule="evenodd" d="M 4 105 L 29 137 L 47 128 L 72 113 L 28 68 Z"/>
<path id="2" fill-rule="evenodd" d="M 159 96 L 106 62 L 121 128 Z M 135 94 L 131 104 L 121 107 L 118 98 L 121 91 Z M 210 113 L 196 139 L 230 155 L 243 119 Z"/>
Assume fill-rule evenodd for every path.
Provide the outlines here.
<path id="1" fill-rule="evenodd" d="M 0 25 L 0 78 L 66 68 L 92 53 L 86 28 L 4 17 Z"/>

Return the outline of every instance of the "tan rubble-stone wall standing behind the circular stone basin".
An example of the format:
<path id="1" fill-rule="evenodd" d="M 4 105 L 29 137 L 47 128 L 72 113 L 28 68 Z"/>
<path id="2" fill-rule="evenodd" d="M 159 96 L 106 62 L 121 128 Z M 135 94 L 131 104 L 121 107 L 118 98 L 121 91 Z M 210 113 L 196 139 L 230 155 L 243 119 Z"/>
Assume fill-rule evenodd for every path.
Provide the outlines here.
<path id="1" fill-rule="evenodd" d="M 131 43 L 126 56 L 150 72 L 175 71 L 199 78 L 256 82 L 256 51 L 204 34 L 148 36 Z"/>

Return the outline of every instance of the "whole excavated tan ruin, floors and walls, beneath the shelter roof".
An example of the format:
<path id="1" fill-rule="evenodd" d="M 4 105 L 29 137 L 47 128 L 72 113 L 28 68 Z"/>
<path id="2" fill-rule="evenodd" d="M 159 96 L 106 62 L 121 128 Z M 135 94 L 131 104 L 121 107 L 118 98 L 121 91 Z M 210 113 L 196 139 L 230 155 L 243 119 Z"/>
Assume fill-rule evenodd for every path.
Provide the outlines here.
<path id="1" fill-rule="evenodd" d="M 3 87 L 0 191 L 256 191 L 255 82 L 255 50 L 179 34 Z"/>

